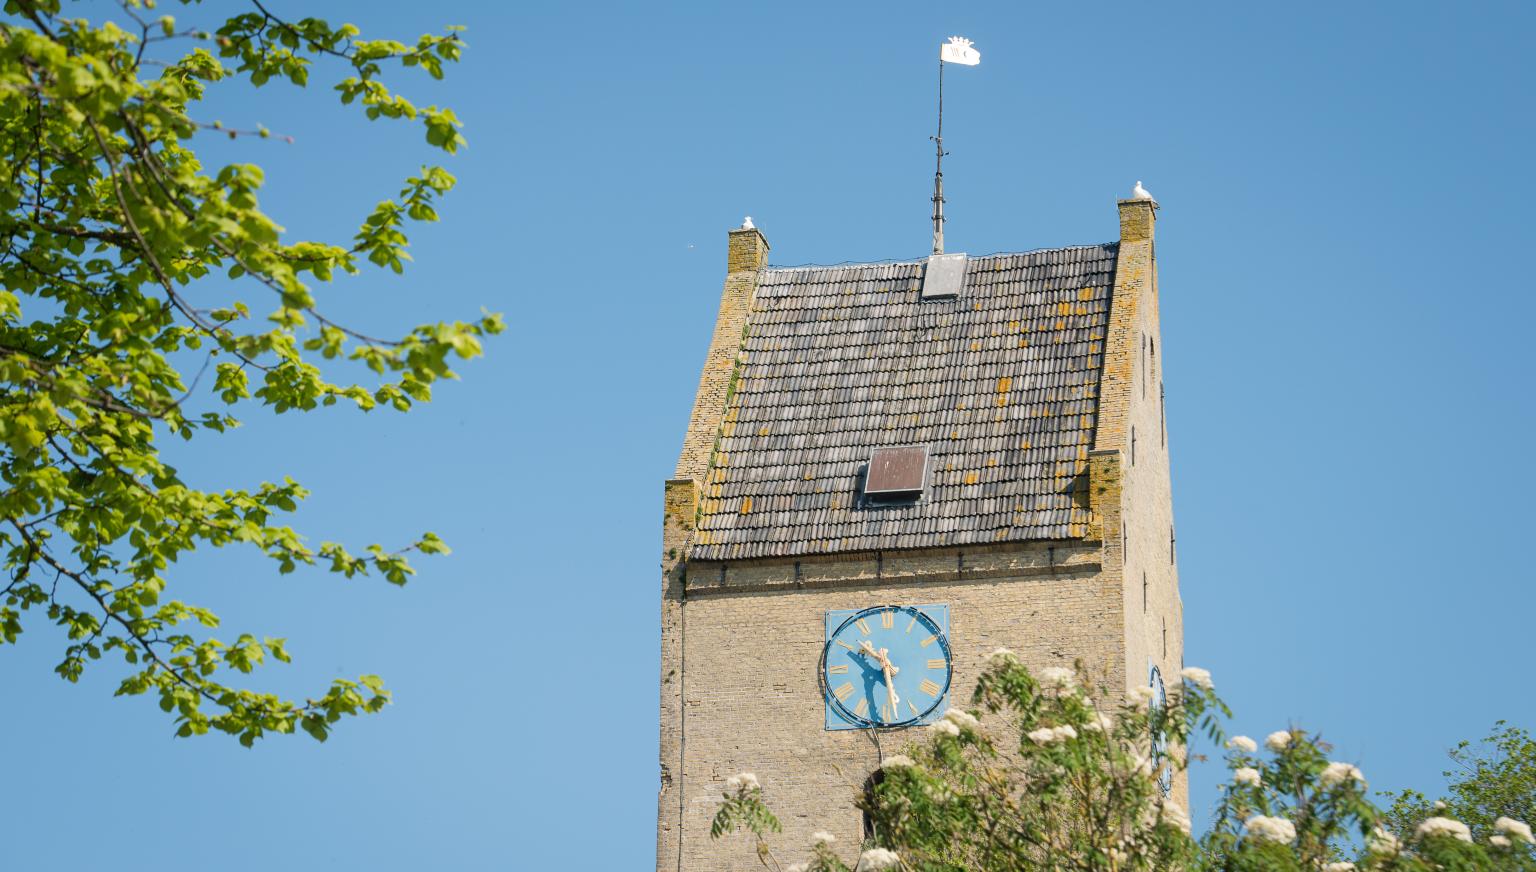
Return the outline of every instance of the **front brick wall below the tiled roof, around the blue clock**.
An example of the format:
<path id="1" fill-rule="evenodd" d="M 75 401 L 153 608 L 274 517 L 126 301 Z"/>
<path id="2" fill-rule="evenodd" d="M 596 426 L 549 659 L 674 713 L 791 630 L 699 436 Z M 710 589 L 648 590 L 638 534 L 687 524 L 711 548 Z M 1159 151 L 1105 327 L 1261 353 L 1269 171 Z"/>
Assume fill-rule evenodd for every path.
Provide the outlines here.
<path id="1" fill-rule="evenodd" d="M 868 732 L 826 731 L 817 666 L 828 609 L 949 605 L 951 705 L 969 705 L 986 656 L 1012 648 L 1031 668 L 1081 657 L 1109 686 L 1124 683 L 1118 585 L 1098 571 L 1097 543 L 1031 543 L 1015 551 L 954 550 L 842 562 L 691 565 L 682 694 L 682 869 L 760 869 L 743 837 L 710 838 L 710 821 L 739 771 L 756 772 L 783 823 L 774 840 L 797 858 L 826 829 L 857 846 L 854 801 L 876 768 Z M 1051 568 L 1055 563 L 1055 570 Z M 965 565 L 965 570 L 957 566 Z M 923 731 L 882 734 L 894 754 Z M 673 866 L 676 869 L 676 858 Z"/>

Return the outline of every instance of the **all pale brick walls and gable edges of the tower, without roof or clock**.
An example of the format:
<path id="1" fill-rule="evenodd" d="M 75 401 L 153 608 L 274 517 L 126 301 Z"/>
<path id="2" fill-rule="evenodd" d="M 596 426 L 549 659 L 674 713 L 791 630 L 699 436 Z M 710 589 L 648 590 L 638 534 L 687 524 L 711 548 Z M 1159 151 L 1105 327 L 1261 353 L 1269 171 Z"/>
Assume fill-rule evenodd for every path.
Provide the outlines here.
<path id="1" fill-rule="evenodd" d="M 817 663 L 828 609 L 943 602 L 955 685 L 969 703 L 998 646 L 1031 668 L 1081 659 L 1114 686 L 1138 686 L 1157 663 L 1169 686 L 1183 665 L 1183 611 L 1169 550 L 1172 496 L 1161 391 L 1155 207 L 1120 203 L 1120 255 L 1089 457 L 1091 534 L 975 550 L 684 560 L 699 482 L 719 434 L 740 338 L 768 244 L 731 233 L 720 316 L 677 473 L 665 488 L 657 872 L 759 869 L 750 844 L 713 841 L 725 780 L 756 772 L 799 857 L 826 829 L 857 844 L 854 800 L 877 766 L 868 732 L 826 731 Z M 1143 585 L 1143 577 L 1146 583 Z M 915 738 L 915 737 L 914 737 Z M 885 754 L 906 743 L 883 734 Z M 1187 803 L 1187 784 L 1175 784 Z"/>

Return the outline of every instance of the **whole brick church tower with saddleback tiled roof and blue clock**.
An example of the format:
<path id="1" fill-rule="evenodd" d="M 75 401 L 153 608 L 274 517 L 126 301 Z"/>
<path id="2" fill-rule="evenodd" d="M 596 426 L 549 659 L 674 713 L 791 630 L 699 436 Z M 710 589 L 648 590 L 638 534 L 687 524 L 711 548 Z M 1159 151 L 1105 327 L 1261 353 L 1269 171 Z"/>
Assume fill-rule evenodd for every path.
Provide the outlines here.
<path id="1" fill-rule="evenodd" d="M 1157 204 L 1118 206 L 1115 243 L 894 264 L 730 232 L 665 485 L 657 872 L 757 867 L 710 840 L 737 771 L 780 844 L 859 844 L 871 729 L 966 708 L 998 646 L 1178 674 Z"/>

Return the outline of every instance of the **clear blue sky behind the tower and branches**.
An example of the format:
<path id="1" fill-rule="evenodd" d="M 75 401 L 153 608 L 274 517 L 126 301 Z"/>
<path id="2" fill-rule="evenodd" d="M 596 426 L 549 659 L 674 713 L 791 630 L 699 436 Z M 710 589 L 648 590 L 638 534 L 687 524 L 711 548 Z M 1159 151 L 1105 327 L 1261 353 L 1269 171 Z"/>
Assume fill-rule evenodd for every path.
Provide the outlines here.
<path id="1" fill-rule="evenodd" d="M 0 651 L 5 866 L 645 869 L 662 481 L 725 232 L 753 215 L 777 264 L 925 255 L 951 34 L 983 52 L 946 94 L 952 250 L 1114 239 L 1138 178 L 1163 203 L 1187 662 L 1233 728 L 1321 729 L 1381 789 L 1436 788 L 1495 718 L 1536 728 L 1531 6 L 937 6 L 272 0 L 373 35 L 468 26 L 447 81 L 396 78 L 465 121 L 461 187 L 404 278 L 330 309 L 378 333 L 485 306 L 510 330 L 409 416 L 250 408 L 172 450 L 209 487 L 295 476 L 315 540 L 456 551 L 406 590 L 233 551 L 175 570 L 227 634 L 290 639 L 264 686 L 387 679 L 396 705 L 326 746 L 175 740 L 111 699 L 112 666 L 54 677 L 35 625 Z M 312 80 L 221 88 L 224 123 L 296 144 L 209 155 L 261 163 L 293 238 L 346 239 L 433 158 Z"/>

